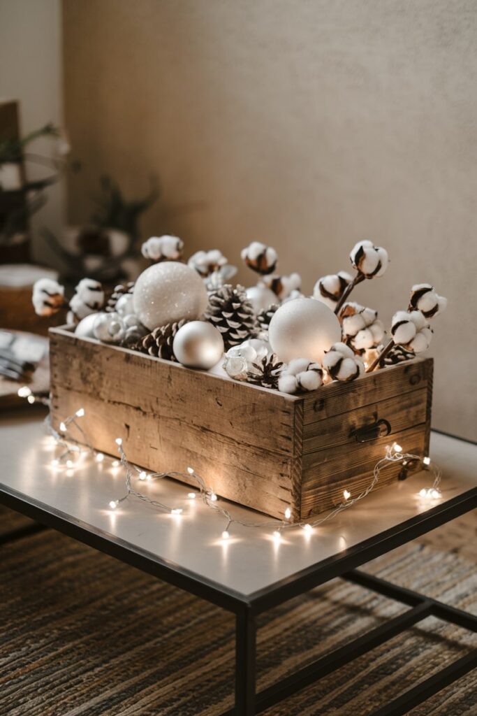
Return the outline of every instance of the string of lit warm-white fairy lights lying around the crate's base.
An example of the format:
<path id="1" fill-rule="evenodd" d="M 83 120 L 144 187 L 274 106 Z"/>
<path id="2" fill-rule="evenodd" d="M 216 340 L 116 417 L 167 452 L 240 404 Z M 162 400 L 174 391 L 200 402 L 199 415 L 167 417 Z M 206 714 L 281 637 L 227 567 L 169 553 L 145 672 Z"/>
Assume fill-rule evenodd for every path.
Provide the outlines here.
<path id="1" fill-rule="evenodd" d="M 19 397 L 26 398 L 26 400 L 28 400 L 30 404 L 33 404 L 34 402 L 41 402 L 42 405 L 49 406 L 49 400 L 47 398 L 35 396 L 28 387 L 20 388 L 18 391 L 18 395 Z M 84 453 L 94 455 L 94 459 L 98 463 L 102 463 L 102 461 L 104 460 L 104 454 L 100 453 L 92 447 L 86 432 L 83 430 L 82 426 L 79 425 L 78 420 L 79 418 L 84 417 L 84 415 L 84 409 L 80 407 L 72 415 L 69 415 L 67 418 L 60 422 L 59 430 L 56 430 L 51 424 L 50 414 L 46 416 L 45 425 L 47 431 L 49 432 L 51 437 L 54 438 L 56 445 L 64 448 L 64 451 L 63 453 L 61 453 L 61 455 L 59 455 L 59 458 L 54 458 L 53 460 L 51 460 L 51 465 L 55 468 L 63 465 L 69 469 L 74 468 L 74 465 L 76 463 L 71 460 L 72 456 L 76 455 L 77 458 L 79 458 L 79 456 Z M 70 435 L 67 439 L 67 433 L 69 433 L 71 426 L 74 426 L 79 431 L 79 434 L 82 437 L 82 443 L 80 443 L 79 440 L 74 439 L 74 437 L 71 437 Z M 413 455 L 412 453 L 403 453 L 403 448 L 401 448 L 400 445 L 394 442 L 393 445 L 386 446 L 385 455 L 383 455 L 383 458 L 380 458 L 380 460 L 378 460 L 378 462 L 375 464 L 373 468 L 373 478 L 370 481 L 369 485 L 358 495 L 355 495 L 355 497 L 353 497 L 348 490 L 343 490 L 343 502 L 336 505 L 336 507 L 330 510 L 325 516 L 320 516 L 315 520 L 300 520 L 293 522 L 291 521 L 292 511 L 291 508 L 288 507 L 285 510 L 285 519 L 281 521 L 277 519 L 270 519 L 269 521 L 260 522 L 255 522 L 252 520 L 240 520 L 232 516 L 232 514 L 227 508 L 223 507 L 218 503 L 218 498 L 215 492 L 209 486 L 207 486 L 207 483 L 205 483 L 205 480 L 204 478 L 202 478 L 202 475 L 197 473 L 193 468 L 187 468 L 187 473 L 181 473 L 175 470 L 169 470 L 167 472 L 159 473 L 153 473 L 149 471 L 147 472 L 146 470 L 143 470 L 142 468 L 137 467 L 137 465 L 134 465 L 129 462 L 129 460 L 127 459 L 127 455 L 124 451 L 123 441 L 121 437 L 117 437 L 115 442 L 119 451 L 119 461 L 112 460 L 112 466 L 119 467 L 119 465 L 121 465 L 122 468 L 124 468 L 126 492 L 124 493 L 124 495 L 117 498 L 116 500 L 109 501 L 108 506 L 110 510 L 115 510 L 118 505 L 124 503 L 124 501 L 127 500 L 130 495 L 132 495 L 139 500 L 142 500 L 144 503 L 152 505 L 159 510 L 162 510 L 171 515 L 180 516 L 183 512 L 182 508 L 177 506 L 171 507 L 170 505 L 162 503 L 160 500 L 149 497 L 149 495 L 144 492 L 141 492 L 141 490 L 138 490 L 137 487 L 134 486 L 134 479 L 139 480 L 139 482 L 142 482 L 144 480 L 147 480 L 147 482 L 149 482 L 153 480 L 162 480 L 163 478 L 177 478 L 178 480 L 182 481 L 190 481 L 190 479 L 192 478 L 197 484 L 197 491 L 188 492 L 187 498 L 189 498 L 189 500 L 196 500 L 197 498 L 200 498 L 200 500 L 202 500 L 202 502 L 207 506 L 207 508 L 214 511 L 216 514 L 220 515 L 224 519 L 225 527 L 222 530 L 222 540 L 227 540 L 230 537 L 230 529 L 234 525 L 245 528 L 260 528 L 262 530 L 271 529 L 272 537 L 275 539 L 275 541 L 280 541 L 282 533 L 292 529 L 301 528 L 307 534 L 313 533 L 313 530 L 315 528 L 320 527 L 321 525 L 323 525 L 323 523 L 330 521 L 340 512 L 348 510 L 357 502 L 367 497 L 367 495 L 369 495 L 369 493 L 372 492 L 372 490 L 378 484 L 381 471 L 385 469 L 388 465 L 393 465 L 396 463 L 401 463 L 403 465 L 403 469 L 408 468 L 408 466 L 412 464 L 413 466 L 420 465 L 421 469 L 430 471 L 433 474 L 434 478 L 433 484 L 431 485 L 431 487 L 422 488 L 418 494 L 421 498 L 426 500 L 436 500 L 441 497 L 440 485 L 442 473 L 441 469 L 438 468 L 438 465 L 435 465 L 431 461 L 431 458 L 429 458 L 427 455 L 423 457 L 421 455 Z"/>

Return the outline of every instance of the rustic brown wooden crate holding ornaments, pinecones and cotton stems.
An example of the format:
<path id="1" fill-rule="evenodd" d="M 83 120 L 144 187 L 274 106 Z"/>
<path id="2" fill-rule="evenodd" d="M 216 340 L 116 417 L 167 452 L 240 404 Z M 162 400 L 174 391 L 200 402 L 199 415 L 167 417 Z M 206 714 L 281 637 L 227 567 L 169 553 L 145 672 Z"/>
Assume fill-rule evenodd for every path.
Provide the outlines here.
<path id="1" fill-rule="evenodd" d="M 428 453 L 432 359 L 330 383 L 300 396 L 233 382 L 129 349 L 50 329 L 54 426 L 84 407 L 94 448 L 154 471 L 197 470 L 222 497 L 282 518 L 307 519 L 358 495 L 385 445 Z M 388 435 L 355 430 L 387 420 Z M 384 424 L 383 424 L 384 425 Z M 396 480 L 400 465 L 381 474 Z M 195 484 L 191 480 L 190 484 Z"/>

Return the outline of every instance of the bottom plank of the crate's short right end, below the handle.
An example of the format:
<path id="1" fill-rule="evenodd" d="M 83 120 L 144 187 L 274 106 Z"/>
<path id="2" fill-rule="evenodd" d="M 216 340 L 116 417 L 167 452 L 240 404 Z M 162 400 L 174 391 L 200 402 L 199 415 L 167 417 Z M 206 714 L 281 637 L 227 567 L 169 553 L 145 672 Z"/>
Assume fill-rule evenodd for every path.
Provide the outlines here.
<path id="1" fill-rule="evenodd" d="M 401 430 L 393 438 L 402 445 L 405 452 L 418 455 L 426 453 L 426 423 Z M 349 490 L 352 497 L 365 490 L 373 478 L 375 464 L 383 458 L 385 447 L 389 444 L 389 437 L 380 437 L 353 448 L 350 445 L 338 445 L 330 450 L 304 455 L 302 519 L 343 502 L 343 490 Z M 401 467 L 400 464 L 386 466 L 375 489 L 395 482 Z"/>

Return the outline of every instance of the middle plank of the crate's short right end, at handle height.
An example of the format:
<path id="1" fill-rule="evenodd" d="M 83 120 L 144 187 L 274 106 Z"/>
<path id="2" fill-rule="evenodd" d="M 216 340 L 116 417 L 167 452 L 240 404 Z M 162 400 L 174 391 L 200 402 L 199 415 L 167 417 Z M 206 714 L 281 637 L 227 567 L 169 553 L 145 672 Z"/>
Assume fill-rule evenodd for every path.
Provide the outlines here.
<path id="1" fill-rule="evenodd" d="M 353 430 L 365 425 L 373 425 L 376 420 L 388 420 L 391 431 L 388 440 L 401 430 L 426 422 L 428 415 L 428 388 L 399 395 L 388 400 L 373 402 L 343 415 L 335 415 L 329 420 L 308 423 L 304 427 L 303 453 L 315 453 L 329 450 L 337 445 L 357 445 Z"/>

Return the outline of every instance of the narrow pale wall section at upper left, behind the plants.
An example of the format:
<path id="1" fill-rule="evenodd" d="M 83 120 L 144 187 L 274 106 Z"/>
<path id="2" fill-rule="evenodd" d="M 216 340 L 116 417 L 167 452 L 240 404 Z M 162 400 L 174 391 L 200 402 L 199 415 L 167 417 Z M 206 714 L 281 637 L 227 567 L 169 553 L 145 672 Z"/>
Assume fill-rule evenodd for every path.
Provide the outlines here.
<path id="1" fill-rule="evenodd" d="M 20 101 L 21 132 L 62 123 L 62 58 L 60 0 L 0 0 L 0 97 Z M 51 156 L 53 145 L 39 140 L 31 152 Z M 37 168 L 34 168 L 37 170 Z M 44 176 L 44 174 L 41 174 Z M 48 203 L 31 221 L 33 257 L 55 263 L 41 228 L 59 235 L 64 189 L 49 190 Z"/>

